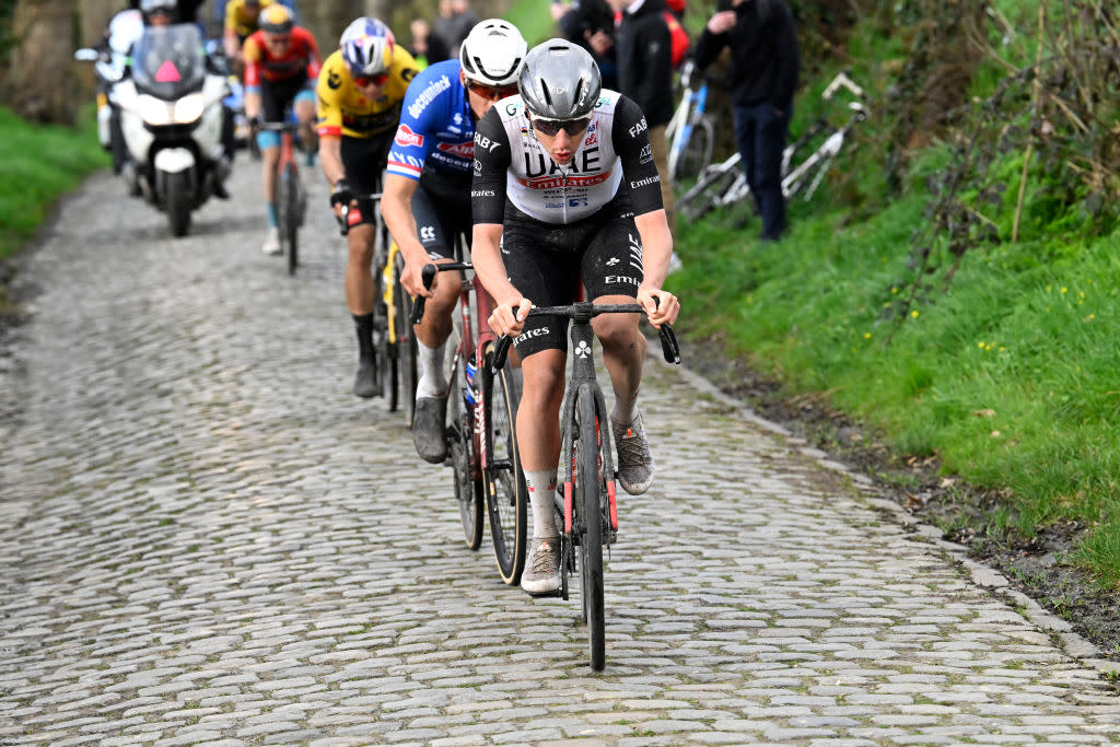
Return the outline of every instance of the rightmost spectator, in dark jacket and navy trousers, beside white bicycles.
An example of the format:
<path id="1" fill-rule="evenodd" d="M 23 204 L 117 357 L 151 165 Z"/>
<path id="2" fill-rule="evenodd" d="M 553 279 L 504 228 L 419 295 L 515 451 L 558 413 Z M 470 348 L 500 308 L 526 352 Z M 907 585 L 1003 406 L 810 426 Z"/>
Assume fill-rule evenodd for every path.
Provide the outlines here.
<path id="1" fill-rule="evenodd" d="M 735 141 L 747 184 L 763 218 L 763 239 L 786 228 L 782 151 L 790 134 L 800 52 L 793 13 L 785 0 L 721 0 L 696 46 L 704 68 L 731 47 L 728 81 L 735 108 Z"/>

